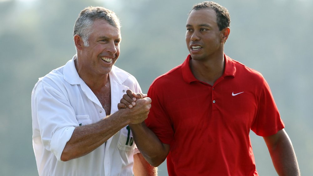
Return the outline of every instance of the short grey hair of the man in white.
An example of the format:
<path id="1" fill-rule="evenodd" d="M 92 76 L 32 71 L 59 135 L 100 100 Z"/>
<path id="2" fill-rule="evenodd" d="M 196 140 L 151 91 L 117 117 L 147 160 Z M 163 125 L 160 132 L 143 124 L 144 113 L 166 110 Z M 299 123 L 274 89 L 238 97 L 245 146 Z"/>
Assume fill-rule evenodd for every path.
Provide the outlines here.
<path id="1" fill-rule="evenodd" d="M 121 28 L 120 20 L 113 11 L 103 7 L 84 8 L 76 19 L 73 36 L 79 35 L 86 47 L 89 46 L 88 39 L 92 33 L 92 25 L 96 19 L 106 20 L 112 26 Z"/>

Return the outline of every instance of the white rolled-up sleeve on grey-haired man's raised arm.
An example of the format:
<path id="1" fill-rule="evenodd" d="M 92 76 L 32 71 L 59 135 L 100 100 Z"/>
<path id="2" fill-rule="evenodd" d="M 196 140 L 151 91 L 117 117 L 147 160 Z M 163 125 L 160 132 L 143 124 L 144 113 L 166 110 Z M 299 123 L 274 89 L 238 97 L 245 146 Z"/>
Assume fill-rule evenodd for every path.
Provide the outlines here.
<path id="1" fill-rule="evenodd" d="M 65 144 L 79 126 L 74 109 L 61 91 L 44 83 L 37 87 L 34 106 L 44 148 L 61 161 Z"/>

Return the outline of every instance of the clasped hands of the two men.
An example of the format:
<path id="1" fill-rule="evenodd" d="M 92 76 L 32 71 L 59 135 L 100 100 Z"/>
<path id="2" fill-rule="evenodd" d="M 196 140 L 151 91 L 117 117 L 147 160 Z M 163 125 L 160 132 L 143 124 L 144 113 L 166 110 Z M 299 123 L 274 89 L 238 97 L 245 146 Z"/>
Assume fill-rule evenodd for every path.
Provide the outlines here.
<path id="1" fill-rule="evenodd" d="M 125 111 L 128 118 L 126 120 L 129 120 L 131 124 L 142 123 L 148 117 L 151 98 L 147 97 L 147 94 L 127 90 L 120 103 L 117 104 L 117 108 L 119 111 Z"/>

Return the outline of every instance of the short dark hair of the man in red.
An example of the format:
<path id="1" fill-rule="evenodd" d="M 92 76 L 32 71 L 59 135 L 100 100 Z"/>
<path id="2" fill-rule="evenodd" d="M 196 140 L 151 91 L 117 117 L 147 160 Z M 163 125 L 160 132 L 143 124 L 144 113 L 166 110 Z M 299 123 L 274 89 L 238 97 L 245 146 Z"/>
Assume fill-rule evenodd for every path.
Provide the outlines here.
<path id="1" fill-rule="evenodd" d="M 230 16 L 227 8 L 212 1 L 205 1 L 194 5 L 191 11 L 200 10 L 203 8 L 212 8 L 216 12 L 216 21 L 220 31 L 226 27 L 230 27 Z M 189 12 L 189 14 L 191 13 L 191 11 Z"/>

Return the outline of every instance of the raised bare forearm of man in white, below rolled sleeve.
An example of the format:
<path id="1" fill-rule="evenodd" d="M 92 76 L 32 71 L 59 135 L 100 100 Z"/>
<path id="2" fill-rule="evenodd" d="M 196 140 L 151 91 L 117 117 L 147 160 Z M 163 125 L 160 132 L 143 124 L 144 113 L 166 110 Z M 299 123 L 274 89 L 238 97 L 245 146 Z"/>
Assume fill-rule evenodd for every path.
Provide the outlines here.
<path id="1" fill-rule="evenodd" d="M 64 147 L 61 160 L 68 161 L 90 153 L 127 124 L 128 122 L 123 120 L 123 110 L 121 110 L 97 123 L 75 128 Z"/>

